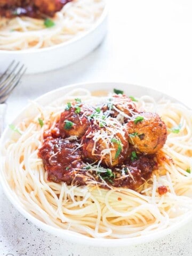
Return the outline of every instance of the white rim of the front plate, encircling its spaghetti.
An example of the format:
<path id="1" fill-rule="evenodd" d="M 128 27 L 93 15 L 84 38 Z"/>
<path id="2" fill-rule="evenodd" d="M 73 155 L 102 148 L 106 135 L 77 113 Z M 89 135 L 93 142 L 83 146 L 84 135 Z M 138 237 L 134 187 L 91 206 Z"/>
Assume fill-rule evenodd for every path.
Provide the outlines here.
<path id="1" fill-rule="evenodd" d="M 134 97 L 141 97 L 142 95 L 150 95 L 153 97 L 156 101 L 162 99 L 162 97 L 165 97 L 167 99 L 170 99 L 172 102 L 178 102 L 177 100 L 169 97 L 166 94 L 163 94 L 161 92 L 158 92 L 156 90 L 149 89 L 147 87 L 141 87 L 138 85 L 132 85 L 132 84 L 126 84 L 126 83 L 86 83 L 86 84 L 75 84 L 75 85 L 69 85 L 65 87 L 61 87 L 60 89 L 48 92 L 38 99 L 36 99 L 37 102 L 41 103 L 41 105 L 47 105 L 51 103 L 53 100 L 58 99 L 61 95 L 65 95 L 69 90 L 77 89 L 77 88 L 84 88 L 90 91 L 98 91 L 98 90 L 106 90 L 106 91 L 113 91 L 114 88 L 123 90 L 127 95 L 133 95 Z M 13 123 L 17 124 L 19 121 L 25 117 L 27 110 L 31 109 L 31 104 L 29 104 L 26 108 L 24 108 L 21 113 L 14 119 Z M 11 130 L 9 127 L 7 127 L 2 134 L 2 138 L 0 140 L 0 147 L 3 148 L 3 145 L 5 141 L 10 137 Z M 0 154 L 0 162 L 2 155 Z M 172 231 L 179 229 L 185 223 L 189 222 L 192 219 L 192 216 L 188 214 L 187 218 L 182 218 L 181 221 L 179 221 L 177 224 L 172 225 L 169 228 L 166 228 L 164 230 L 158 230 L 153 233 L 153 235 L 145 235 L 140 237 L 134 237 L 134 238 L 120 238 L 120 239 L 106 239 L 106 238 L 90 238 L 83 236 L 81 234 L 75 233 L 73 231 L 69 230 L 62 230 L 59 228 L 55 228 L 52 226 L 49 226 L 42 221 L 39 221 L 33 215 L 31 215 L 29 212 L 27 212 L 25 209 L 23 209 L 22 204 L 19 202 L 19 199 L 16 195 L 12 193 L 12 190 L 7 183 L 5 179 L 5 171 L 1 168 L 0 170 L 0 181 L 2 183 L 2 187 L 4 189 L 4 192 L 6 196 L 10 199 L 11 203 L 15 206 L 15 208 L 25 216 L 25 218 L 29 219 L 31 222 L 33 222 L 36 226 L 39 228 L 42 228 L 43 230 L 46 230 L 48 233 L 51 233 L 55 236 L 59 236 L 63 239 L 66 239 L 68 241 L 74 242 L 74 243 L 82 243 L 98 247 L 115 247 L 115 246 L 129 246 L 133 244 L 141 244 L 149 241 L 153 241 L 159 237 L 164 237 L 167 234 L 170 234 Z M 10 213 L 11 214 L 11 213 Z"/>

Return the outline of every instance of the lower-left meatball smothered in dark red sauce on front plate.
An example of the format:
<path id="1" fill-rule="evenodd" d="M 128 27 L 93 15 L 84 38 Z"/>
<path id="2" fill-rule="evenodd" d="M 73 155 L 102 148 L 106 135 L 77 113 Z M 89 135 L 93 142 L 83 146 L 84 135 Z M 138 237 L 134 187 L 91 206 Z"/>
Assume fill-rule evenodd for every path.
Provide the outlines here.
<path id="1" fill-rule="evenodd" d="M 81 172 L 85 166 L 76 143 L 50 137 L 44 141 L 38 151 L 38 156 L 43 159 L 47 180 L 64 181 L 67 185 L 71 185 L 71 182 L 78 185 L 85 182 L 85 178 L 84 180 L 76 179 L 78 172 Z"/>

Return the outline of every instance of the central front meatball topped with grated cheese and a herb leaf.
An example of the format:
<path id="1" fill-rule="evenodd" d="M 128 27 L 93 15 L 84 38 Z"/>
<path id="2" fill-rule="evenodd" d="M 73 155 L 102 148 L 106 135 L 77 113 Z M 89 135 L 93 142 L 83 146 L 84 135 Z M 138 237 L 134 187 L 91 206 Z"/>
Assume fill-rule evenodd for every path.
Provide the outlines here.
<path id="1" fill-rule="evenodd" d="M 109 167 L 123 163 L 129 148 L 128 134 L 115 118 L 94 121 L 82 138 L 82 152 L 86 161 Z"/>

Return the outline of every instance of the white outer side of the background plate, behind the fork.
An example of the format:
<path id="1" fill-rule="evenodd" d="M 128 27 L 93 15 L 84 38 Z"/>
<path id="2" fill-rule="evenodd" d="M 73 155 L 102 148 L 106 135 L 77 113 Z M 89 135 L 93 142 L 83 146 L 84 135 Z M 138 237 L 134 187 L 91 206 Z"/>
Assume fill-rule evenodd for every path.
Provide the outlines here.
<path id="1" fill-rule="evenodd" d="M 5 70 L 12 60 L 20 61 L 27 67 L 27 74 L 42 73 L 65 67 L 93 51 L 107 31 L 107 4 L 101 17 L 86 33 L 68 42 L 43 49 L 5 51 L 0 50 L 0 72 Z"/>

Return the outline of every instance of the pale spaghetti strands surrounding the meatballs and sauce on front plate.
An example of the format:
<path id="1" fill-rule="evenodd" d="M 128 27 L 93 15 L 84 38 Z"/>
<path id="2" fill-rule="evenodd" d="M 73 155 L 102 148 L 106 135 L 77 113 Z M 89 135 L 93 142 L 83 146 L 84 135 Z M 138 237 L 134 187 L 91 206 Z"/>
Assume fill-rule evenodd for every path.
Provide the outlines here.
<path id="1" fill-rule="evenodd" d="M 6 179 L 26 211 L 50 226 L 97 238 L 153 234 L 191 213 L 192 114 L 165 99 L 155 102 L 143 96 L 135 102 L 140 111 L 158 113 L 169 130 L 166 143 L 156 156 L 158 170 L 136 191 L 67 186 L 65 182 L 47 180 L 42 159 L 38 157 L 43 132 L 55 126 L 66 103 L 77 97 L 92 105 L 107 99 L 78 89 L 46 107 L 34 103 L 36 113 L 14 127 L 2 149 Z M 167 193 L 160 195 L 159 187 L 166 187 Z"/>

